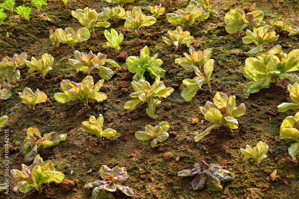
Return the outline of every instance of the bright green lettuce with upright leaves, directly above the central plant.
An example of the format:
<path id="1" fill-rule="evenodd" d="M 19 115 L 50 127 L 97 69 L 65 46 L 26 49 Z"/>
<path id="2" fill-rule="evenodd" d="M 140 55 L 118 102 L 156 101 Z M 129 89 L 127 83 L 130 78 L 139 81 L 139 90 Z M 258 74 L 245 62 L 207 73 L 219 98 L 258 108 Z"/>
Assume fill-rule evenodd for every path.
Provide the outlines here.
<path id="1" fill-rule="evenodd" d="M 145 79 L 143 74 L 145 70 L 149 72 L 152 79 L 157 76 L 162 78 L 165 75 L 165 70 L 161 69 L 160 66 L 163 64 L 161 59 L 157 59 L 158 54 L 153 57 L 149 57 L 149 49 L 145 46 L 140 51 L 140 57 L 129 56 L 126 59 L 126 64 L 130 72 L 136 73 L 133 76 L 134 81 Z"/>

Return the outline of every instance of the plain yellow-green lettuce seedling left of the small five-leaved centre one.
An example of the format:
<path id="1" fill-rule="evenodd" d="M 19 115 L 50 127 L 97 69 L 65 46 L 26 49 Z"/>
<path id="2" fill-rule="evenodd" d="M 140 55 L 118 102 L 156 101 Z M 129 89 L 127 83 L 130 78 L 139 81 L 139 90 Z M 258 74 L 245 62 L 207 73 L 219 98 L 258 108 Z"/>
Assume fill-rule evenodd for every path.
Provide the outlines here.
<path id="1" fill-rule="evenodd" d="M 103 123 L 104 119 L 102 114 L 100 114 L 100 116 L 97 119 L 93 115 L 91 115 L 89 117 L 89 121 L 82 122 L 81 126 L 83 131 L 97 135 L 101 142 L 102 137 L 107 138 L 109 140 L 114 140 L 120 136 L 120 134 L 117 133 L 114 129 L 108 128 L 103 130 Z"/>

